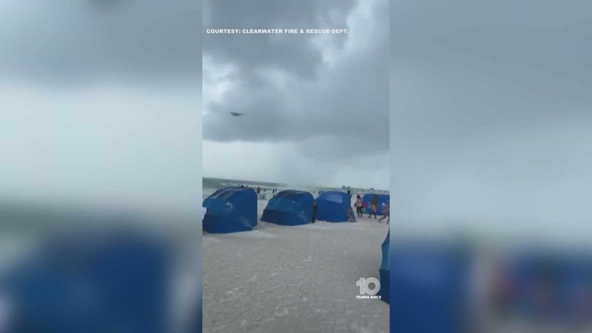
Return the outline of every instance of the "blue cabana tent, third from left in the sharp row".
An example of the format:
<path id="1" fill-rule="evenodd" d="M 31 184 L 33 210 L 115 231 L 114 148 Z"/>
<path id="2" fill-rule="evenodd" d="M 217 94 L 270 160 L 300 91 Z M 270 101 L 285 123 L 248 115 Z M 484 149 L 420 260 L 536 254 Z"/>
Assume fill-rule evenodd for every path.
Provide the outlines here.
<path id="1" fill-rule="evenodd" d="M 317 220 L 347 222 L 355 219 L 351 206 L 349 194 L 340 191 L 323 192 L 317 197 Z"/>

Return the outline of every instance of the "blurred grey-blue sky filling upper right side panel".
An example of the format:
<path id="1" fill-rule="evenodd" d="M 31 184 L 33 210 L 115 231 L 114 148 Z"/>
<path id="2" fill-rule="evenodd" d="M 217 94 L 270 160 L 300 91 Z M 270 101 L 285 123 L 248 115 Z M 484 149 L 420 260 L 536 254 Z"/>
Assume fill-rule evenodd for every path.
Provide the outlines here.
<path id="1" fill-rule="evenodd" d="M 391 14 L 393 225 L 590 239 L 592 4 L 409 0 Z"/>

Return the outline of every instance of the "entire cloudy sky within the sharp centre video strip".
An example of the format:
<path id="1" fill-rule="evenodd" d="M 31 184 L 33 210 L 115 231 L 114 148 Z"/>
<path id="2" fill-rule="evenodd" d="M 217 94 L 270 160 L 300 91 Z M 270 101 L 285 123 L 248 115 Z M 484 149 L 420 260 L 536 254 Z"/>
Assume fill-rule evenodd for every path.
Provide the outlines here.
<path id="1" fill-rule="evenodd" d="M 388 189 L 388 6 L 204 1 L 204 177 Z M 208 28 L 349 34 L 207 34 Z"/>

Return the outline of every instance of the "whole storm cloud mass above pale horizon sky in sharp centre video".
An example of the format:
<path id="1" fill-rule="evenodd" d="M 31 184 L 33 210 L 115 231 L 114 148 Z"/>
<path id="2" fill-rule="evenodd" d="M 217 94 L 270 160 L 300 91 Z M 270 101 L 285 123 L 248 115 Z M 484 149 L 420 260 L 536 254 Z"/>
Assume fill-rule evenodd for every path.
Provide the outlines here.
<path id="1" fill-rule="evenodd" d="M 204 28 L 323 27 L 351 32 L 323 36 L 329 43 L 326 49 L 315 46 L 313 39 L 319 36 L 314 34 L 206 34 L 204 55 L 234 66 L 236 73 L 221 100 L 204 105 L 204 139 L 303 142 L 309 157 L 388 149 L 388 2 L 363 1 L 371 5 L 372 20 L 365 25 L 372 28 L 366 31 L 352 30 L 346 22 L 357 3 L 274 2 L 241 8 L 207 4 L 204 12 L 211 17 L 204 18 Z M 348 50 L 348 41 L 360 40 L 363 46 Z M 280 54 L 284 52 L 288 54 Z M 246 116 L 231 118 L 230 112 Z"/>

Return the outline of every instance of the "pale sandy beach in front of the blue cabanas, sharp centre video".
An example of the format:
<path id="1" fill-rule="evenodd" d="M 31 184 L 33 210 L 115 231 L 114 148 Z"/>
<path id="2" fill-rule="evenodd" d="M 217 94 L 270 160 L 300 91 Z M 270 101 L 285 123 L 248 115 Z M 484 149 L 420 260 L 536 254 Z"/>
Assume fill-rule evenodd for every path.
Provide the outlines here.
<path id="1" fill-rule="evenodd" d="M 389 332 L 389 306 L 355 298 L 359 278 L 379 278 L 387 232 L 364 217 L 203 235 L 204 332 Z"/>

